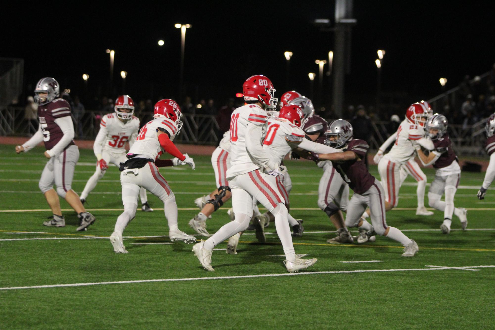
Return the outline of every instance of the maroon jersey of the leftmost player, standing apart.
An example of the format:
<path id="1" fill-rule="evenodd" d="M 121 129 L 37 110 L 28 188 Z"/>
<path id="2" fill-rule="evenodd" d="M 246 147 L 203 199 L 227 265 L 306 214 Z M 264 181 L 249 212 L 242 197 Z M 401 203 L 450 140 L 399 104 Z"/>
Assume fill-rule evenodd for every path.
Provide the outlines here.
<path id="1" fill-rule="evenodd" d="M 45 148 L 50 150 L 63 137 L 60 126 L 55 123 L 55 119 L 70 116 L 70 105 L 63 98 L 57 98 L 45 105 L 38 106 L 38 118 L 43 132 L 43 142 Z M 74 140 L 70 141 L 65 147 L 75 144 Z"/>

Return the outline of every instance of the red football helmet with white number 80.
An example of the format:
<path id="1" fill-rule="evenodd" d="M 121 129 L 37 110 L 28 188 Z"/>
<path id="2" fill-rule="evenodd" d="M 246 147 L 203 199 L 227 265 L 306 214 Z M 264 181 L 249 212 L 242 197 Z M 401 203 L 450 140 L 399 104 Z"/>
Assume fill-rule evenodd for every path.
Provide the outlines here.
<path id="1" fill-rule="evenodd" d="M 258 101 L 266 110 L 275 110 L 278 99 L 273 97 L 275 88 L 270 79 L 262 75 L 251 76 L 243 84 L 245 101 Z"/>

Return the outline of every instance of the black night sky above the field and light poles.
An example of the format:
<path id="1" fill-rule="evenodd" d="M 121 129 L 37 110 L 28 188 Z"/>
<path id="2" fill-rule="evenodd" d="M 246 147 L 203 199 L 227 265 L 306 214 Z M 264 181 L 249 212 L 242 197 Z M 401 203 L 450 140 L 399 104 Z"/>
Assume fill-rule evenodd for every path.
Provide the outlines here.
<path id="1" fill-rule="evenodd" d="M 495 5 L 458 2 L 355 0 L 346 103 L 373 102 L 377 49 L 387 51 L 383 89 L 407 92 L 410 101 L 439 94 L 440 77 L 452 88 L 465 74 L 488 71 L 495 62 Z M 26 85 L 52 76 L 62 87 L 82 93 L 83 73 L 90 75 L 90 91 L 98 86 L 104 91 L 109 75 L 105 49 L 115 49 L 115 84 L 121 84 L 119 72 L 125 70 L 127 93 L 154 101 L 177 95 L 177 22 L 193 25 L 186 33 L 185 81 L 193 96 L 198 86 L 199 97 L 233 96 L 251 74 L 268 76 L 280 96 L 289 88 L 286 50 L 294 52 L 290 89 L 308 94 L 307 74 L 318 69 L 314 60 L 327 58 L 334 48 L 333 32 L 320 32 L 311 21 L 333 21 L 335 1 L 174 3 L 3 8 L 0 56 L 25 59 Z M 157 45 L 159 39 L 165 46 Z"/>

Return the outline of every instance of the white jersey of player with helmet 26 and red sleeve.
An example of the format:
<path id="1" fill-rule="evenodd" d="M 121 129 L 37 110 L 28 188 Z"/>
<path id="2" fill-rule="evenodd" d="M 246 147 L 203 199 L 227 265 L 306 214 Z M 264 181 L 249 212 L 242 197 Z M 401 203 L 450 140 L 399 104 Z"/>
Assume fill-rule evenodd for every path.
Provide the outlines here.
<path id="1" fill-rule="evenodd" d="M 162 128 L 170 134 L 170 140 L 174 141 L 177 134 L 177 125 L 168 118 L 156 118 L 149 121 L 139 131 L 136 141 L 127 153 L 141 155 L 142 157 L 157 159 L 163 153 L 156 132 Z"/>

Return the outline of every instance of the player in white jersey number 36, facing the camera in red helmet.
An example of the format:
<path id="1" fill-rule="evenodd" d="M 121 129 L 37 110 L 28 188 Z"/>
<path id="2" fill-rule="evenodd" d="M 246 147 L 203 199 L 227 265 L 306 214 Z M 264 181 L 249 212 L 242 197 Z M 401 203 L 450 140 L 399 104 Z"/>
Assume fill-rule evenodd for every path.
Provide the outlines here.
<path id="1" fill-rule="evenodd" d="M 139 131 L 139 119 L 134 116 L 134 101 L 129 95 L 120 95 L 115 100 L 115 113 L 107 113 L 101 118 L 100 128 L 93 144 L 93 151 L 98 159 L 96 172 L 89 178 L 83 192 L 81 202 L 84 204 L 89 193 L 95 189 L 99 179 L 103 178 L 108 169 L 108 163 L 119 167 L 127 160 L 125 144 L 129 141 L 131 147 Z M 177 162 L 177 160 L 175 160 Z M 146 189 L 139 190 L 142 210 L 153 211 L 148 205 Z"/>

